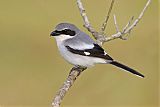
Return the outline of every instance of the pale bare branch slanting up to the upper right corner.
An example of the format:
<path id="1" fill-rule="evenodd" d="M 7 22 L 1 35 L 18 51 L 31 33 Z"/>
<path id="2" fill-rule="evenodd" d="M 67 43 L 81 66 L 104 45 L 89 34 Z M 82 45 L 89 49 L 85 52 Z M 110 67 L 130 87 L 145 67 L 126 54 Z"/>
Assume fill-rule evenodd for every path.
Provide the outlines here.
<path id="1" fill-rule="evenodd" d="M 130 25 L 131 21 L 133 20 L 133 17 L 131 18 L 131 20 L 127 23 L 127 25 L 123 28 L 122 32 L 117 32 L 116 34 L 113 34 L 111 36 L 106 37 L 105 42 L 107 41 L 111 41 L 117 38 L 126 40 L 126 38 L 124 38 L 123 36 L 125 34 L 129 34 L 133 28 L 138 24 L 138 22 L 141 20 L 142 16 L 144 15 L 147 7 L 149 6 L 149 4 L 151 3 L 151 0 L 148 0 L 146 5 L 144 6 L 143 10 L 141 11 L 141 13 L 139 14 L 138 18 Z"/>

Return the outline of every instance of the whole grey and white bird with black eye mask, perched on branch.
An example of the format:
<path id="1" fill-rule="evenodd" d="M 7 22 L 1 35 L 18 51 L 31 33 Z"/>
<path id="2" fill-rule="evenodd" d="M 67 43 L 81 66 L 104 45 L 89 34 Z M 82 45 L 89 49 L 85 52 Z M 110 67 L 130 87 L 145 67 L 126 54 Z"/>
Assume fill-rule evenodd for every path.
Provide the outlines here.
<path id="1" fill-rule="evenodd" d="M 139 77 L 144 77 L 134 69 L 115 61 L 90 36 L 73 24 L 60 23 L 50 35 L 55 37 L 64 59 L 75 66 L 91 67 L 97 63 L 112 64 Z"/>

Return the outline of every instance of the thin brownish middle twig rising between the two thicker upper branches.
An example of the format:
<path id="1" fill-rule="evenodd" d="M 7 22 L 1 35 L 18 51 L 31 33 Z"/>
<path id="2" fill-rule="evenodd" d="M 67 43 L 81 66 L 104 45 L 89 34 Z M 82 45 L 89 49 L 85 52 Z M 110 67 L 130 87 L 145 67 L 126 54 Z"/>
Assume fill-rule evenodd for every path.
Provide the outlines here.
<path id="1" fill-rule="evenodd" d="M 109 17 L 110 17 L 110 14 L 111 14 L 114 1 L 115 1 L 115 0 L 112 0 L 111 5 L 110 5 L 110 8 L 109 8 L 108 13 L 107 13 L 107 16 L 106 16 L 106 18 L 105 18 L 105 20 L 104 20 L 104 22 L 103 22 L 103 24 L 102 24 L 102 27 L 101 27 L 101 32 L 102 32 L 102 33 L 104 33 L 104 31 L 105 31 L 105 29 L 106 29 L 106 27 L 107 27 L 107 22 L 108 22 L 108 19 L 109 19 Z"/>

